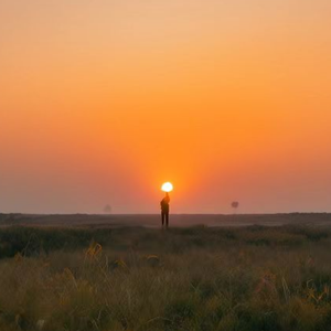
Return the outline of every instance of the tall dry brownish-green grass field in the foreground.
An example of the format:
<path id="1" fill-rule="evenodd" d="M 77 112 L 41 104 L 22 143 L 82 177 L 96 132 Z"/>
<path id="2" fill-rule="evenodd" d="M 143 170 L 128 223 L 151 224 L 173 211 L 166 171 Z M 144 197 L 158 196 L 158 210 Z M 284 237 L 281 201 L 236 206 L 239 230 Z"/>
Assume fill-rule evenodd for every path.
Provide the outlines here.
<path id="1" fill-rule="evenodd" d="M 0 330 L 331 330 L 331 229 L 0 229 Z"/>

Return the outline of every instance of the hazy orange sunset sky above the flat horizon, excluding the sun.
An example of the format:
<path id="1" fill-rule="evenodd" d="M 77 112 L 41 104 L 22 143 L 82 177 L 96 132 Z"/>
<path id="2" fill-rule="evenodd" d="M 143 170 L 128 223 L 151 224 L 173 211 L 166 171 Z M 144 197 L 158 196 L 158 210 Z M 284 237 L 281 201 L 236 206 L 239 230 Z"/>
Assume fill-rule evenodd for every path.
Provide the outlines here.
<path id="1" fill-rule="evenodd" d="M 330 0 L 0 0 L 0 213 L 331 212 Z"/>

